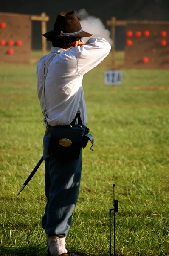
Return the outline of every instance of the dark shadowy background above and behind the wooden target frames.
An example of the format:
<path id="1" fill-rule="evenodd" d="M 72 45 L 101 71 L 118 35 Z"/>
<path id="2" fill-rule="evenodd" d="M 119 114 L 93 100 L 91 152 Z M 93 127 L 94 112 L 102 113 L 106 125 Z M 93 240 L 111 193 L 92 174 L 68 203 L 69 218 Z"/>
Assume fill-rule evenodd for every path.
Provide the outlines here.
<path id="1" fill-rule="evenodd" d="M 2 0 L 0 12 L 15 12 L 40 15 L 46 12 L 50 17 L 48 30 L 53 28 L 56 16 L 65 10 L 86 9 L 89 15 L 98 17 L 106 26 L 112 16 L 117 20 L 169 20 L 169 0 Z M 124 49 L 124 27 L 116 29 L 116 50 Z M 50 48 L 50 44 L 48 45 Z M 41 22 L 32 23 L 32 49 L 41 49 Z"/>

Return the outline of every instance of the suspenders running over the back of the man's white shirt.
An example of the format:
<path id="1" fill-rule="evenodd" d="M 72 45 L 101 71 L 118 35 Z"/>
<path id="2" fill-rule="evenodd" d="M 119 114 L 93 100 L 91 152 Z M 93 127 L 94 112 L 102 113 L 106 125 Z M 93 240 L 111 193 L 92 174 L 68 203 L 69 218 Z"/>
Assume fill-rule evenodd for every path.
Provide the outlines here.
<path id="1" fill-rule="evenodd" d="M 47 76 L 47 73 L 48 73 L 49 64 L 51 63 L 51 61 L 53 60 L 53 58 L 57 54 L 59 54 L 59 53 L 56 53 L 51 58 L 49 58 L 49 60 L 46 64 L 46 69 L 45 69 L 45 57 L 43 58 L 43 61 L 42 61 L 42 95 L 41 95 L 41 98 L 40 98 L 40 105 L 41 105 L 42 113 L 43 113 L 43 116 L 44 116 L 44 119 L 45 119 L 46 123 L 47 123 L 47 120 L 46 120 L 45 112 L 47 111 L 47 109 L 46 109 L 46 104 L 45 104 L 45 81 L 46 81 L 46 76 Z M 44 70 L 45 70 L 45 72 L 44 72 Z M 70 124 L 71 127 L 75 125 L 76 119 L 78 119 L 79 127 L 82 128 L 82 126 L 83 126 L 82 119 L 80 117 L 81 100 L 82 100 L 82 90 L 81 90 L 81 96 L 80 96 L 78 111 L 76 113 L 75 118 L 73 119 L 73 121 Z"/>

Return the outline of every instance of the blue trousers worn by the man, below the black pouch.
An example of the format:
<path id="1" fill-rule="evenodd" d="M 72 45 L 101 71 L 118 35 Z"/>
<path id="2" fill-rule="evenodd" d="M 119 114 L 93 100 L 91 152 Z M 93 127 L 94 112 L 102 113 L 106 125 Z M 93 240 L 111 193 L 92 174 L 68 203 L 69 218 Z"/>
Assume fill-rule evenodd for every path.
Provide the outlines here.
<path id="1" fill-rule="evenodd" d="M 67 160 L 66 156 L 64 160 L 51 157 L 48 155 L 50 135 L 44 135 L 43 138 L 47 203 L 42 217 L 42 227 L 47 236 L 65 237 L 79 195 L 82 149 L 77 160 Z"/>

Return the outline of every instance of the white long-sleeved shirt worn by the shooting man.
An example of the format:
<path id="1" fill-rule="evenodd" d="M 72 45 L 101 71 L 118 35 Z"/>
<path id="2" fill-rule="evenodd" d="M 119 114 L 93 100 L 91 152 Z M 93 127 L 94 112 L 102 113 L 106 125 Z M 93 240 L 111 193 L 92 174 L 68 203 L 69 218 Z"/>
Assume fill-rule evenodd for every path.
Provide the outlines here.
<path id="1" fill-rule="evenodd" d="M 87 110 L 82 87 L 83 75 L 96 67 L 110 52 L 104 38 L 90 38 L 83 46 L 65 50 L 51 47 L 51 53 L 37 63 L 38 98 L 42 95 L 42 60 L 45 66 L 56 53 L 48 67 L 45 80 L 45 117 L 49 125 L 69 125 L 76 116 L 81 98 L 81 119 L 87 124 Z"/>

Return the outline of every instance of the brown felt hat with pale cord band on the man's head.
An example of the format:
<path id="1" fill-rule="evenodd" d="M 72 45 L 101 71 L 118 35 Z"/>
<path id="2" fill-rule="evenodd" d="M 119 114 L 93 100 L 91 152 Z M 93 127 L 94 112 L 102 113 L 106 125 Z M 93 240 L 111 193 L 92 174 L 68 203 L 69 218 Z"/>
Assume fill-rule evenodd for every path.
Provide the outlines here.
<path id="1" fill-rule="evenodd" d="M 54 36 L 74 36 L 74 37 L 87 37 L 92 36 L 82 30 L 79 18 L 75 11 L 60 12 L 54 23 L 54 29 L 43 34 L 44 37 Z"/>

